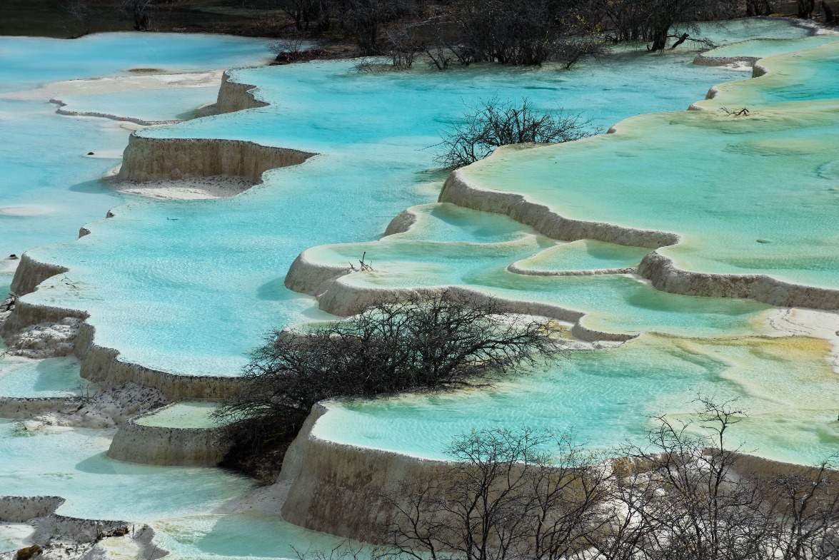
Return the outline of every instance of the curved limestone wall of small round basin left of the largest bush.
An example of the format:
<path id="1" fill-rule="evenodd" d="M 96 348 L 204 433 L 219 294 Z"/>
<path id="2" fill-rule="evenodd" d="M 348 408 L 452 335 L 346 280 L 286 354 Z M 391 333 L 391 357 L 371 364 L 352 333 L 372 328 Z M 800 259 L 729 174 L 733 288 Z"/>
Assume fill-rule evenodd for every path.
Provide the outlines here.
<path id="1" fill-rule="evenodd" d="M 221 428 L 146 426 L 136 423 L 141 417 L 120 426 L 107 450 L 108 457 L 130 463 L 215 466 L 230 449 Z"/>

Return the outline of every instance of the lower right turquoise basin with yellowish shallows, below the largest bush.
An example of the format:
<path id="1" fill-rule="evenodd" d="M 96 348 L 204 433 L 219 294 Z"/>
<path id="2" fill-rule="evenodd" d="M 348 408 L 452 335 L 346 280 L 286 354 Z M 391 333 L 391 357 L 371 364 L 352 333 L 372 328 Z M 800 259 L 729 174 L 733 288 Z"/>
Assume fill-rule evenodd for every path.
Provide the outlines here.
<path id="1" fill-rule="evenodd" d="M 362 447 L 445 459 L 472 428 L 571 431 L 593 448 L 641 443 L 649 417 L 688 420 L 697 393 L 738 398 L 749 416 L 729 443 L 770 459 L 809 464 L 839 445 L 836 374 L 824 340 L 807 337 L 683 339 L 645 334 L 611 350 L 575 350 L 567 360 L 488 390 L 331 402 L 314 435 Z"/>

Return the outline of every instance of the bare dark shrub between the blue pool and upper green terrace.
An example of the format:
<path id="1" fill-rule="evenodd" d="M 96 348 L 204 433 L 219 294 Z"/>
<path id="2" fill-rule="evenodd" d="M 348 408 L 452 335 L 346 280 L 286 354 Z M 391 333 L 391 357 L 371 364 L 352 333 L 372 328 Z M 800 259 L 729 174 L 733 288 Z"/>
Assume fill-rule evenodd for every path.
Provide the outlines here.
<path id="1" fill-rule="evenodd" d="M 447 169 L 456 169 L 486 158 L 499 146 L 571 142 L 597 132 L 579 114 L 538 111 L 526 98 L 521 105 L 493 98 L 450 123 L 438 144 L 437 161 Z"/>

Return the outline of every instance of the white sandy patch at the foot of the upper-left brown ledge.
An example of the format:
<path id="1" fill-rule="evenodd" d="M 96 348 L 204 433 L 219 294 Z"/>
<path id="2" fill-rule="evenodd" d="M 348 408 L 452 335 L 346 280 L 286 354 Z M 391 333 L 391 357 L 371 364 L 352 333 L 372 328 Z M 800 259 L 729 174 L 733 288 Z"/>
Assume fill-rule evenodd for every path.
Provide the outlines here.
<path id="1" fill-rule="evenodd" d="M 145 183 L 120 181 L 116 177 L 111 177 L 106 179 L 106 184 L 121 193 L 139 194 L 159 200 L 223 199 L 253 187 L 253 183 L 246 179 L 228 177 L 201 177 Z"/>

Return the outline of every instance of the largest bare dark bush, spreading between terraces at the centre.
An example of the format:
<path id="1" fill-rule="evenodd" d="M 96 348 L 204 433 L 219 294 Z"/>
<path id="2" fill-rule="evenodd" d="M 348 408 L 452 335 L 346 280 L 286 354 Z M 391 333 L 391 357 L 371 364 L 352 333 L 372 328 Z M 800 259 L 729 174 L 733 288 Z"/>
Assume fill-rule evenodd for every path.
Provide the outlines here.
<path id="1" fill-rule="evenodd" d="M 269 333 L 216 414 L 236 443 L 231 460 L 248 468 L 294 438 L 316 402 L 487 384 L 560 352 L 555 329 L 448 291 L 380 303 L 305 332 Z"/>

